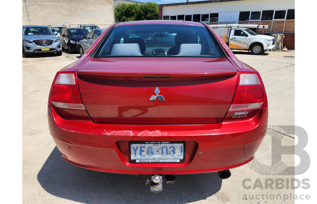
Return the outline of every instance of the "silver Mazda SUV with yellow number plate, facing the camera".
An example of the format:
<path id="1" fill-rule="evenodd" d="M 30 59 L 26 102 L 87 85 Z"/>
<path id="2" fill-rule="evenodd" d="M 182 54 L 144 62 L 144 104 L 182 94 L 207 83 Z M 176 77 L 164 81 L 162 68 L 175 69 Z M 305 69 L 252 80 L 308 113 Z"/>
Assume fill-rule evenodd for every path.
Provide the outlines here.
<path id="1" fill-rule="evenodd" d="M 33 53 L 61 55 L 61 40 L 46 26 L 23 26 L 22 50 L 24 57 Z"/>

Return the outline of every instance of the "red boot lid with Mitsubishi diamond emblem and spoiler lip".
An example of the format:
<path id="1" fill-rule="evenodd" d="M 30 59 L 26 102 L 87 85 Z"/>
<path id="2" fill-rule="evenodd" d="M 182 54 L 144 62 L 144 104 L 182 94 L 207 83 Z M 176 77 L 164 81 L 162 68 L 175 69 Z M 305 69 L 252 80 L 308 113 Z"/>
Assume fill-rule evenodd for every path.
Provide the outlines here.
<path id="1" fill-rule="evenodd" d="M 225 117 L 237 69 L 230 58 L 88 57 L 77 80 L 96 123 L 205 124 Z"/>

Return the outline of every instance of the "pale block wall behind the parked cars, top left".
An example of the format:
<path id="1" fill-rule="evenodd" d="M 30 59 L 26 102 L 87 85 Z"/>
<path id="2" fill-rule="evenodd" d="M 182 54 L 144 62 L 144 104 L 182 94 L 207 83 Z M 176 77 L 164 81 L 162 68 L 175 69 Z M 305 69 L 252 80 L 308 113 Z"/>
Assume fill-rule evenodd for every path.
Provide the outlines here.
<path id="1" fill-rule="evenodd" d="M 114 23 L 113 0 L 22 0 L 23 25 L 66 25 L 71 23 Z"/>

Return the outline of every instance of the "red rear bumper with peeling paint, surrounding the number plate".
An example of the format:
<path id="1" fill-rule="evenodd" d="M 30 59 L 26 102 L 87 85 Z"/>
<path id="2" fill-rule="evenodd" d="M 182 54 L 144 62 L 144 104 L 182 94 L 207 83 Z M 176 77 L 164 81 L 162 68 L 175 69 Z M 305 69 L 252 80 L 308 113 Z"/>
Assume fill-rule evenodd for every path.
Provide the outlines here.
<path id="1" fill-rule="evenodd" d="M 63 119 L 54 108 L 48 108 L 48 119 L 62 158 L 79 167 L 137 175 L 195 174 L 230 169 L 251 161 L 266 133 L 268 109 L 243 123 L 202 125 L 96 124 Z M 129 163 L 128 142 L 140 140 L 185 141 L 185 162 Z"/>

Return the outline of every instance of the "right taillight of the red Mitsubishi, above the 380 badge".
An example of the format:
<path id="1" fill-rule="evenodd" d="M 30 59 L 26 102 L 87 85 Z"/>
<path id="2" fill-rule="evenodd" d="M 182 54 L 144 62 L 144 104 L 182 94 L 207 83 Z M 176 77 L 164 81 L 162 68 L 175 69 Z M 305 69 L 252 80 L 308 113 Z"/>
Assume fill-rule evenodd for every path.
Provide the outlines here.
<path id="1" fill-rule="evenodd" d="M 229 111 L 266 107 L 268 101 L 260 74 L 239 71 L 236 93 Z"/>

